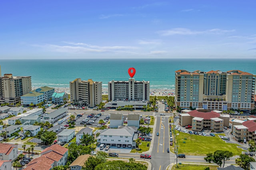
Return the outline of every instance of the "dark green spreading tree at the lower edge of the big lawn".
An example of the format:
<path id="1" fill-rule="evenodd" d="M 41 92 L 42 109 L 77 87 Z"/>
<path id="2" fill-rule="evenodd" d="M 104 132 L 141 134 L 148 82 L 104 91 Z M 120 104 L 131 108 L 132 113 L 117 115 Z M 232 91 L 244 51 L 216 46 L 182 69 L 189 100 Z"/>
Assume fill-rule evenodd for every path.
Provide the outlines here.
<path id="1" fill-rule="evenodd" d="M 225 165 L 225 161 L 229 160 L 230 157 L 233 156 L 233 153 L 230 151 L 225 151 L 225 150 L 216 150 L 213 154 L 208 153 L 206 154 L 206 157 L 204 157 L 204 160 L 206 162 L 214 162 L 215 164 L 219 165 L 221 167 L 222 161 L 223 161 L 223 166 Z"/>

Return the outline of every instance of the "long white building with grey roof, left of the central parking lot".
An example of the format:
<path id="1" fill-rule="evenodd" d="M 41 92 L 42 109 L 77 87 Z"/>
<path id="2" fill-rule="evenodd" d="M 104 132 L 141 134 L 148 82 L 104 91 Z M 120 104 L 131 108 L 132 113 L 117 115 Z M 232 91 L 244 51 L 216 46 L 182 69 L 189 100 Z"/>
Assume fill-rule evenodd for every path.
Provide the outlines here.
<path id="1" fill-rule="evenodd" d="M 56 123 L 59 119 L 63 119 L 68 114 L 68 109 L 64 107 L 60 107 L 59 109 L 56 109 L 52 113 L 49 113 L 45 115 L 41 121 L 43 122 L 50 122 L 52 124 Z"/>

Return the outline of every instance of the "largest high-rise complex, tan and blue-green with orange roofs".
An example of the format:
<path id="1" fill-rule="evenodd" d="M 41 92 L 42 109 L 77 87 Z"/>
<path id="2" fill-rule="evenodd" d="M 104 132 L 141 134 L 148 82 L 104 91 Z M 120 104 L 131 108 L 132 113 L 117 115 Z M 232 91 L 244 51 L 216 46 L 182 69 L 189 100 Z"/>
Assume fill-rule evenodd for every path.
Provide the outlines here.
<path id="1" fill-rule="evenodd" d="M 255 76 L 240 70 L 177 70 L 176 106 L 210 110 L 253 109 Z"/>

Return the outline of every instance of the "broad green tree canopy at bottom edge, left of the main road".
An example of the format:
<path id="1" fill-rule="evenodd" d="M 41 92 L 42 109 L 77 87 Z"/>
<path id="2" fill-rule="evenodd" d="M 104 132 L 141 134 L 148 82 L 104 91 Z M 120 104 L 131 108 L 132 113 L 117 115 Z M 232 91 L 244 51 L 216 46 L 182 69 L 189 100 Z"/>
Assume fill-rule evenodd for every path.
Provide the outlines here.
<path id="1" fill-rule="evenodd" d="M 147 170 L 147 167 L 145 165 L 142 165 L 140 163 L 130 163 L 130 162 L 124 162 L 122 160 L 114 160 L 114 161 L 108 161 L 105 163 L 98 164 L 94 170 Z"/>

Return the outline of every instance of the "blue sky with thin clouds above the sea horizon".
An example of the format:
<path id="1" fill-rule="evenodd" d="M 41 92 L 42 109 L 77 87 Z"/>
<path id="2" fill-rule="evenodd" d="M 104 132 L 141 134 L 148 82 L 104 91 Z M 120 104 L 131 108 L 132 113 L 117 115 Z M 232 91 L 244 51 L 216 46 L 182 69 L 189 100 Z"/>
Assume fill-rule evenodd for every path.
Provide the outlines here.
<path id="1" fill-rule="evenodd" d="M 0 59 L 256 58 L 255 0 L 0 4 Z"/>

